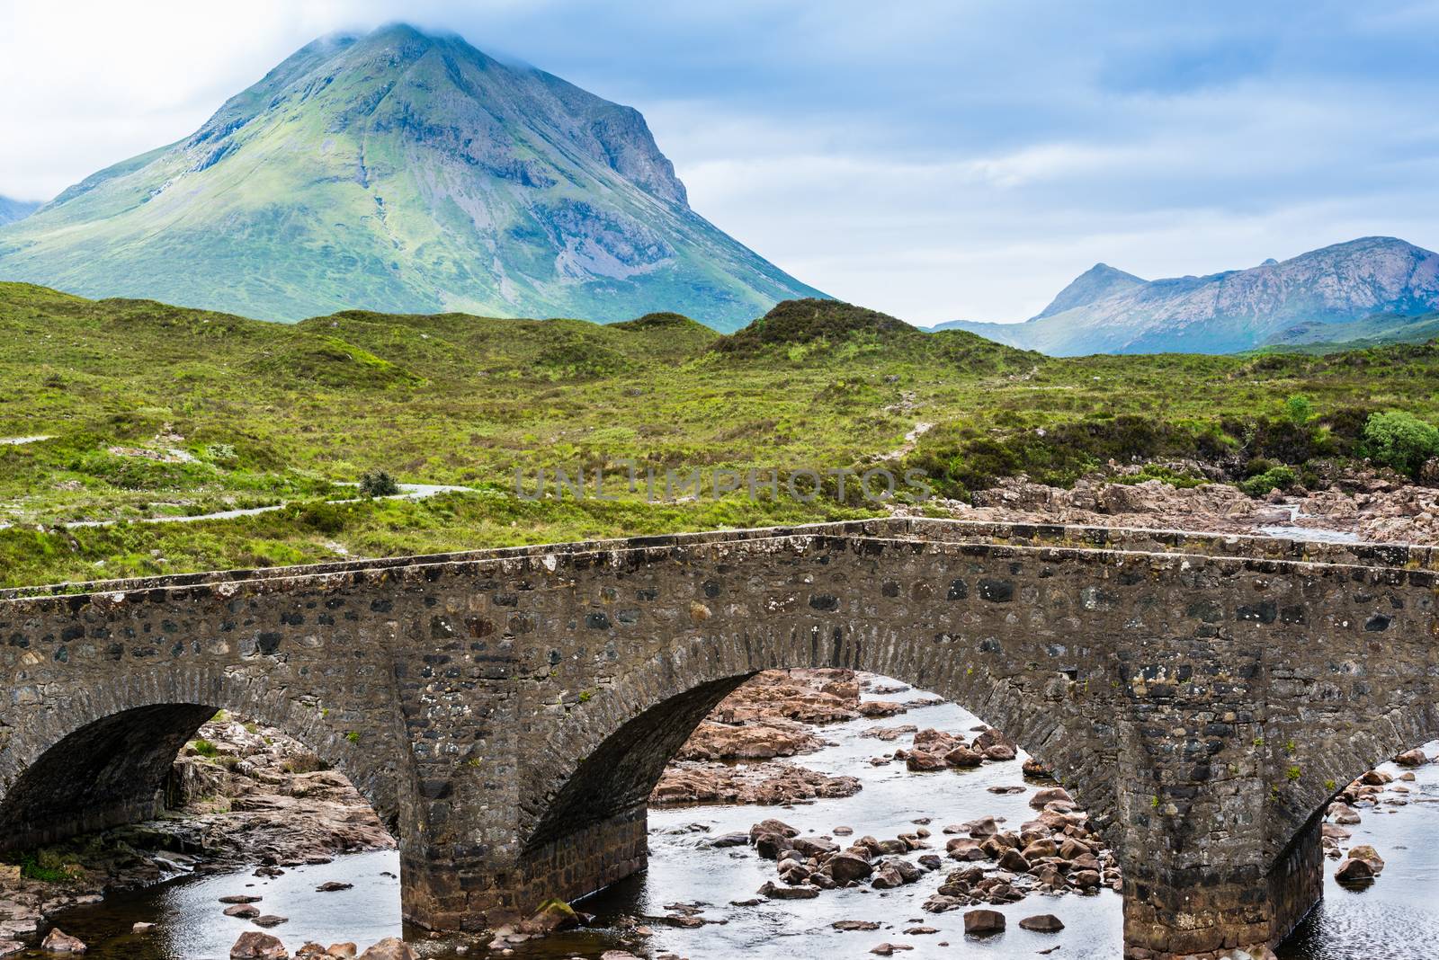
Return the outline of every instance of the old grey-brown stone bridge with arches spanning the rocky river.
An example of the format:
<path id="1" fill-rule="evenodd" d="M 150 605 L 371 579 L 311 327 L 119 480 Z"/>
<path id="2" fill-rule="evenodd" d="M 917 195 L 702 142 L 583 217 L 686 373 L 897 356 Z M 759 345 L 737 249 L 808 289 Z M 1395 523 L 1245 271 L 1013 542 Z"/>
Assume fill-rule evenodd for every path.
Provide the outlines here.
<path id="1" fill-rule="evenodd" d="M 773 667 L 950 697 L 1124 869 L 1135 957 L 1274 944 L 1318 819 L 1439 737 L 1439 550 L 872 520 L 0 592 L 0 846 L 155 812 L 217 709 L 345 772 L 406 915 L 478 928 L 645 867 L 646 798 Z"/>

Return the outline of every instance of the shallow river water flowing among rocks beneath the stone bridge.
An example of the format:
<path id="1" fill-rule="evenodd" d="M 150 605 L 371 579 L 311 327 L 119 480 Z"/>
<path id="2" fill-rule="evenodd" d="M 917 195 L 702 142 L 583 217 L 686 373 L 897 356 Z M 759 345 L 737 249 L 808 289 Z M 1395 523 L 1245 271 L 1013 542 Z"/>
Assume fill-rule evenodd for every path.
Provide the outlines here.
<path id="1" fill-rule="evenodd" d="M 886 696 L 886 700 L 918 697 L 915 691 Z M 1058 946 L 1052 956 L 1069 960 L 1115 960 L 1121 956 L 1121 898 L 1102 890 L 1097 895 L 1063 897 L 1032 894 L 1017 904 L 999 907 L 1009 918 L 1004 933 L 966 937 L 964 910 L 928 914 L 921 904 L 954 867 L 925 874 L 918 882 L 889 891 L 869 887 L 825 891 L 814 900 L 751 901 L 768 880 L 774 864 L 760 859 L 753 848 L 707 849 L 708 836 L 747 831 L 751 823 L 776 816 L 802 832 L 829 834 L 850 826 L 855 836 L 888 838 L 912 832 L 917 821 L 931 818 L 931 842 L 943 854 L 945 823 L 984 815 L 1003 816 L 1017 828 L 1033 811 L 1019 795 L 994 795 L 987 788 L 1020 785 L 1020 763 L 993 763 L 973 770 L 912 773 L 902 763 L 871 766 L 869 757 L 907 746 L 908 737 L 885 743 L 861 734 L 875 726 L 914 723 L 955 733 L 979 720 L 953 706 L 912 709 L 885 720 L 853 720 L 822 727 L 833 742 L 817 753 L 799 757 L 804 766 L 826 773 L 856 776 L 863 789 L 855 796 L 826 799 L 791 808 L 688 806 L 650 811 L 650 864 L 633 877 L 578 904 L 596 914 L 596 926 L 517 944 L 518 960 L 599 957 L 604 950 L 630 950 L 640 956 L 673 953 L 691 960 L 773 957 L 774 960 L 832 960 L 869 956 L 881 943 L 914 947 L 896 956 L 911 959 L 941 956 L 1033 957 Z M 1427 744 L 1433 754 L 1439 743 Z M 1392 773 L 1397 767 L 1386 765 Z M 1351 844 L 1371 844 L 1386 861 L 1379 881 L 1368 890 L 1353 891 L 1333 880 L 1335 861 L 1325 861 L 1325 900 L 1294 938 L 1279 951 L 1282 960 L 1430 960 L 1439 956 L 1439 765 L 1416 772 L 1403 806 L 1361 808 L 1363 823 L 1351 828 Z M 1386 792 L 1386 799 L 1402 795 Z M 92 960 L 223 960 L 235 938 L 250 927 L 243 920 L 222 915 L 219 898 L 258 894 L 263 913 L 289 917 L 272 930 L 294 951 L 307 940 L 330 944 L 355 941 L 361 949 L 400 933 L 399 857 L 394 852 L 358 854 L 321 867 L 288 871 L 275 880 L 248 874 L 178 878 L 148 890 L 108 898 L 59 917 L 56 926 L 91 944 Z M 315 892 L 325 881 L 354 884 L 340 892 Z M 698 908 L 709 923 L 696 928 L 672 926 L 668 917 L 682 904 Z M 1032 914 L 1055 914 L 1065 930 L 1058 934 L 1029 933 L 1017 921 Z M 843 933 L 837 920 L 879 923 L 872 931 Z M 131 934 L 135 921 L 155 923 L 155 930 Z M 931 927 L 934 933 L 907 934 L 908 928 Z M 416 931 L 410 931 L 416 934 Z M 416 940 L 419 937 L 416 936 Z M 419 940 L 420 953 L 436 960 L 484 956 L 471 949 L 462 954 L 453 941 Z M 35 957 L 42 954 L 35 951 Z"/>

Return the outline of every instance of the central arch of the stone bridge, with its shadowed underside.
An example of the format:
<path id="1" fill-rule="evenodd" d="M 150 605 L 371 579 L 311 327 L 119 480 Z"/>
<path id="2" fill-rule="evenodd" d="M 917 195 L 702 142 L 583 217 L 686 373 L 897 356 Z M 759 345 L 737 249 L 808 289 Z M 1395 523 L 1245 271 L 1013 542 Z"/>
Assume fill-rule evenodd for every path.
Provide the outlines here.
<path id="1" fill-rule="evenodd" d="M 705 638 L 635 664 L 613 687 L 591 694 L 586 710 L 571 711 L 573 723 L 551 731 L 550 763 L 532 767 L 521 790 L 521 811 L 532 823 L 525 851 L 534 855 L 613 818 L 642 816 L 665 766 L 727 694 L 763 670 L 804 667 L 884 674 L 938 693 L 1053 770 L 1097 826 L 1112 821 L 1114 730 L 1097 731 L 1094 716 L 1075 709 L 1068 675 L 1056 671 L 1052 683 L 1026 688 L 986 670 L 948 670 L 948 655 L 935 650 L 950 642 L 944 631 L 892 644 L 866 644 L 843 631 L 819 634 L 812 628 L 783 637 Z"/>

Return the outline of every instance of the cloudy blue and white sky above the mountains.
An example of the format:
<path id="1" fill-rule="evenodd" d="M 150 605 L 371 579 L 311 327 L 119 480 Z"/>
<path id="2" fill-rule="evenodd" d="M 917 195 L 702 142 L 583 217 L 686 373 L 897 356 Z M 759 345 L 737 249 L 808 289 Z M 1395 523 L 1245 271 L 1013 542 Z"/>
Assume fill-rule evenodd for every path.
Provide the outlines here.
<path id="1" fill-rule="evenodd" d="M 1026 319 L 1097 262 L 1439 249 L 1439 0 L 0 0 L 0 194 L 53 197 L 396 20 L 636 106 L 698 213 L 915 323 Z"/>

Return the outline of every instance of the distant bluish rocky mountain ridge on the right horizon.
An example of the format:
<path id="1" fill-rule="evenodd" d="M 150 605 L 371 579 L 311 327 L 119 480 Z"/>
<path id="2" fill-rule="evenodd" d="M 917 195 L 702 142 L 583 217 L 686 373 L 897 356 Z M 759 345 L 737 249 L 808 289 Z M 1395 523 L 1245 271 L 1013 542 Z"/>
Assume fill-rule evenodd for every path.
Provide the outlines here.
<path id="1" fill-rule="evenodd" d="M 1101 269 L 1101 276 L 1092 276 Z M 1383 331 L 1406 326 L 1396 318 L 1439 309 L 1439 253 L 1394 237 L 1361 237 L 1282 263 L 1203 277 L 1141 282 L 1121 274 L 1127 279 L 1115 283 L 1108 270 L 1104 264 L 1089 270 L 1025 323 L 957 320 L 944 326 L 1056 356 L 1229 354 L 1386 339 Z M 1389 319 L 1368 319 L 1377 315 Z M 1416 328 L 1387 339 L 1425 338 Z"/>

